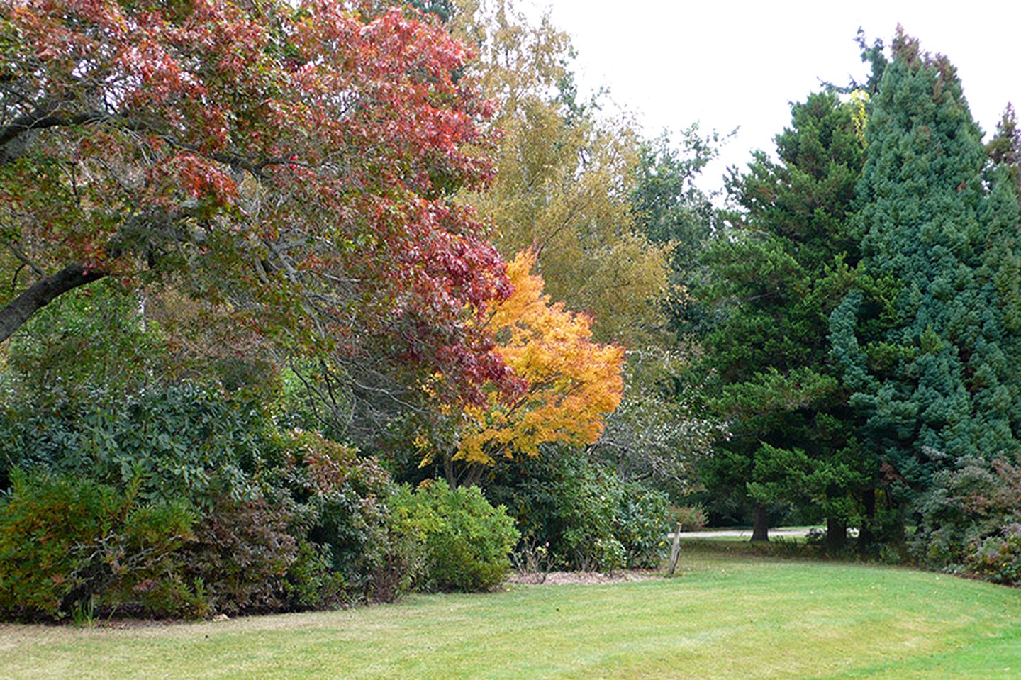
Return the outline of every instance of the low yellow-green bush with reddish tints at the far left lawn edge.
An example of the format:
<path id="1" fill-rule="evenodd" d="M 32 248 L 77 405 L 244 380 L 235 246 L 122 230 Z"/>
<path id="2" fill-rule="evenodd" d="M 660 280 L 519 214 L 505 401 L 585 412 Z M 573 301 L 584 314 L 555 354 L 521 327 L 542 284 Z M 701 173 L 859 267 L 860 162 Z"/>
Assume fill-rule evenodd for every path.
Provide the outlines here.
<path id="1" fill-rule="evenodd" d="M 195 520 L 186 504 L 139 504 L 131 490 L 89 479 L 15 470 L 11 481 L 0 502 L 0 613 L 61 618 L 96 597 L 173 579 Z M 177 614 L 194 602 L 176 585 Z"/>

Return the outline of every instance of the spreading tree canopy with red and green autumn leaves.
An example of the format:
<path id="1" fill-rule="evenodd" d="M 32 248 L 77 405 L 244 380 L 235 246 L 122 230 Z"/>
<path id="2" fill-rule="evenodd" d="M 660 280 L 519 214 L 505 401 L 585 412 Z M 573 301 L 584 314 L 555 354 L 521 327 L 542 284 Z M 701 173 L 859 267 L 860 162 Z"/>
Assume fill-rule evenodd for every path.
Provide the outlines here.
<path id="1" fill-rule="evenodd" d="M 0 0 L 0 341 L 92 281 L 173 283 L 478 400 L 510 287 L 448 199 L 492 174 L 468 56 L 406 7 Z"/>

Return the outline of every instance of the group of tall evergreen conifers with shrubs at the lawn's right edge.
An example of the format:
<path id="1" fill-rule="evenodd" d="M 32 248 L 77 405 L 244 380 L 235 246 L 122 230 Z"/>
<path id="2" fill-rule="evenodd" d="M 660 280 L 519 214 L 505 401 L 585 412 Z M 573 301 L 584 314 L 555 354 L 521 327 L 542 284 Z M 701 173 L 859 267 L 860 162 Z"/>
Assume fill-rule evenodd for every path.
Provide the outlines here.
<path id="1" fill-rule="evenodd" d="M 1014 112 L 983 147 L 945 57 L 900 29 L 888 59 L 861 45 L 868 82 L 794 104 L 777 160 L 731 178 L 700 295 L 707 403 L 730 427 L 702 479 L 758 539 L 808 508 L 830 550 L 854 526 L 860 552 L 1012 581 Z"/>

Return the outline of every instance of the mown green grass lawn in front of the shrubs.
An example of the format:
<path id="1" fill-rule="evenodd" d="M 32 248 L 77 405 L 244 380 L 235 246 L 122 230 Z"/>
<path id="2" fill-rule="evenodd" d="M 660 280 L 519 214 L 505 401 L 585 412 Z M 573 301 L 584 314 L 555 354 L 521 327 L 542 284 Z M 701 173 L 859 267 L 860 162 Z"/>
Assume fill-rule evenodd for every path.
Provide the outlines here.
<path id="1" fill-rule="evenodd" d="M 675 579 L 127 630 L 5 625 L 0 677 L 1021 677 L 1019 589 L 684 549 Z"/>

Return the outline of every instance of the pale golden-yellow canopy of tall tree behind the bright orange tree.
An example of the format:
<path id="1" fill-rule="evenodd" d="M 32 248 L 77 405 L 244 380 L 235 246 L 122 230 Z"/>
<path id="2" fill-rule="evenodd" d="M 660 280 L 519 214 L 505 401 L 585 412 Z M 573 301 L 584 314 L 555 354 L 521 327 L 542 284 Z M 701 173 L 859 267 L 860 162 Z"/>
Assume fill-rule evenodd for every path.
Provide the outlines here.
<path id="1" fill-rule="evenodd" d="M 553 300 L 592 317 L 601 342 L 658 342 L 669 247 L 637 228 L 631 187 L 638 136 L 624 116 L 578 101 L 567 35 L 510 2 L 485 4 L 477 65 L 501 130 L 497 173 L 465 200 L 495 225 L 504 257 L 531 248 Z"/>

